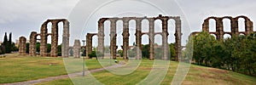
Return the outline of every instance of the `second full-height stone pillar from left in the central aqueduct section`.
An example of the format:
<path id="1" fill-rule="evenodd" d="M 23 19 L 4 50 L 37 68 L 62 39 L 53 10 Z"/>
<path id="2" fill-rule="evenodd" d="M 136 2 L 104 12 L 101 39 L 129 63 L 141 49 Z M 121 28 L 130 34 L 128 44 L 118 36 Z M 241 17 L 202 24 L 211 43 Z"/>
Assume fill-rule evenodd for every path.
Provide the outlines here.
<path id="1" fill-rule="evenodd" d="M 110 54 L 112 59 L 116 59 L 116 20 L 111 19 L 110 21 Z"/>

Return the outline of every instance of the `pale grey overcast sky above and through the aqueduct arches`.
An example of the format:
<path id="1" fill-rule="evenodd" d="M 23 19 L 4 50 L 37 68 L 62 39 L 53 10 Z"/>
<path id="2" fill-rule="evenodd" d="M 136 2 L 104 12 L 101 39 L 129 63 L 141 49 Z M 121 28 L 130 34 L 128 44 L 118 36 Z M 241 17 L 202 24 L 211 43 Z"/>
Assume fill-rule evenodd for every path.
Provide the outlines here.
<path id="1" fill-rule="evenodd" d="M 40 26 L 45 20 L 65 18 L 70 21 L 70 42 L 73 45 L 74 39 L 85 39 L 86 33 L 96 32 L 97 20 L 102 17 L 154 17 L 158 14 L 163 14 L 181 16 L 184 45 L 189 32 L 201 31 L 203 20 L 209 16 L 229 15 L 236 17 L 237 15 L 246 15 L 253 22 L 256 20 L 256 12 L 254 12 L 256 8 L 255 0 L 114 1 L 0 0 L 0 41 L 3 41 L 4 32 L 13 32 L 13 41 L 20 36 L 28 39 L 31 31 L 40 31 Z M 156 21 L 156 23 L 160 24 L 160 21 Z M 170 23 L 171 25 L 169 26 L 172 26 L 172 22 Z M 106 25 L 107 29 L 108 26 Z M 119 28 L 119 26 L 121 25 L 117 27 Z M 131 22 L 131 28 L 134 26 L 135 24 Z M 255 24 L 253 26 L 255 27 Z M 145 27 L 147 28 L 147 26 Z M 170 32 L 169 34 L 173 33 L 172 30 L 168 31 Z M 131 33 L 134 33 L 134 31 L 131 30 Z M 118 37 L 119 45 L 121 44 L 120 39 Z M 143 39 L 143 43 L 146 43 L 145 41 L 148 40 Z M 130 44 L 132 42 L 135 42 L 135 40 L 131 39 Z M 156 42 L 160 43 L 158 39 L 156 39 Z M 170 37 L 168 42 L 174 42 L 174 38 Z"/>

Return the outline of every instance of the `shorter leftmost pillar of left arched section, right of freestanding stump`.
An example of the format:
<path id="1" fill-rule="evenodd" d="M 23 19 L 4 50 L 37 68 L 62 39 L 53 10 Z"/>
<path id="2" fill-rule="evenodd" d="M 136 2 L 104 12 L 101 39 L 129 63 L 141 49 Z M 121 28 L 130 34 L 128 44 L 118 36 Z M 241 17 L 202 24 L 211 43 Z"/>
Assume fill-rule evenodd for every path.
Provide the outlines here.
<path id="1" fill-rule="evenodd" d="M 30 34 L 30 40 L 29 40 L 29 55 L 30 56 L 36 56 L 37 55 L 37 32 L 32 31 Z"/>

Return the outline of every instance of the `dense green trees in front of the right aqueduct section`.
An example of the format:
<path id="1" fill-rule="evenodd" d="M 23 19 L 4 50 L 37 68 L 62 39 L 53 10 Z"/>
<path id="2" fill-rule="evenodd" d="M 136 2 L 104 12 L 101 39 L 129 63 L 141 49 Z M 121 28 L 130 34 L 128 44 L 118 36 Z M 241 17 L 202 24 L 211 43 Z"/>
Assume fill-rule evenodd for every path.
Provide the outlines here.
<path id="1" fill-rule="evenodd" d="M 197 36 L 189 37 L 183 56 L 193 59 L 197 65 L 255 75 L 256 34 L 218 41 L 209 33 L 201 32 Z"/>

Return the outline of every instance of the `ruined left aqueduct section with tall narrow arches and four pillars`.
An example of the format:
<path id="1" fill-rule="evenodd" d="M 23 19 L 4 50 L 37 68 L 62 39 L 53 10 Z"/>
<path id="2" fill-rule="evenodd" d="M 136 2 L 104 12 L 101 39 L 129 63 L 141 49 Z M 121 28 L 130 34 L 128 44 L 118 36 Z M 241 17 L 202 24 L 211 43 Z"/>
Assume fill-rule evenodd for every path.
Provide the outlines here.
<path id="1" fill-rule="evenodd" d="M 40 33 L 32 31 L 29 40 L 29 54 L 35 56 L 36 53 L 36 42 L 40 40 L 40 55 L 47 56 L 47 37 L 51 36 L 51 57 L 58 56 L 58 31 L 60 30 L 58 24 L 63 23 L 63 35 L 62 35 L 62 44 L 61 44 L 61 55 L 62 57 L 68 57 L 68 48 L 69 48 L 69 21 L 66 19 L 60 20 L 46 20 L 41 26 Z M 51 28 L 47 28 L 47 24 L 51 23 Z M 51 29 L 51 33 L 48 33 L 48 29 Z M 40 39 L 37 37 L 40 36 Z"/>

